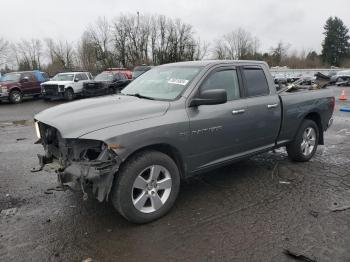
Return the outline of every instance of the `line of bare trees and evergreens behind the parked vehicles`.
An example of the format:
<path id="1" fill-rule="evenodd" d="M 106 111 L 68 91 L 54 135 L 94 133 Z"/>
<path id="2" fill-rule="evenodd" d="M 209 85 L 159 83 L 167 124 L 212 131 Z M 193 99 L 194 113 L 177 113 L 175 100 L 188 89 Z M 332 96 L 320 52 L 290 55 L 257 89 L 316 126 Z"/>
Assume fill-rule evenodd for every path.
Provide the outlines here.
<path id="1" fill-rule="evenodd" d="M 96 74 L 109 67 L 202 59 L 255 59 L 290 68 L 350 66 L 348 28 L 338 17 L 330 17 L 324 30 L 321 54 L 314 50 L 291 51 L 291 46 L 282 41 L 261 52 L 260 40 L 243 28 L 208 43 L 180 19 L 139 14 L 120 15 L 113 20 L 101 17 L 76 43 L 52 38 L 10 43 L 0 38 L 0 68 L 5 72 L 40 69 L 50 75 L 70 70 Z"/>

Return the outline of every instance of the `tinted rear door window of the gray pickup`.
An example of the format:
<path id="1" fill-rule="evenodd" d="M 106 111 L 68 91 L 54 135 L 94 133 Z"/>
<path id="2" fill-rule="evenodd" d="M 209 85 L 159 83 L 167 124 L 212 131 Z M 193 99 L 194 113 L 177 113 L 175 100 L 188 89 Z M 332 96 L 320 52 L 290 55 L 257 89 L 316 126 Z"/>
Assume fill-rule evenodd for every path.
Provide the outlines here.
<path id="1" fill-rule="evenodd" d="M 260 68 L 244 68 L 247 96 L 264 96 L 269 94 L 269 85 L 265 73 Z"/>

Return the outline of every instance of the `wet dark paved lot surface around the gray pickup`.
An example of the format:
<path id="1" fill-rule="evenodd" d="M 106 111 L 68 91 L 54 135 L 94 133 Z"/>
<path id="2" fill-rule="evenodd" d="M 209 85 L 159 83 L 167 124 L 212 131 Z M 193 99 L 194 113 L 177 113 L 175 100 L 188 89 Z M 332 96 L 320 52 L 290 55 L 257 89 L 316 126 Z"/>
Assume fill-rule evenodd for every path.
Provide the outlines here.
<path id="1" fill-rule="evenodd" d="M 338 97 L 339 88 L 335 88 Z M 28 121 L 52 106 L 0 104 L 0 261 L 350 261 L 350 113 L 339 112 L 308 163 L 270 152 L 184 183 L 175 208 L 142 226 L 109 203 L 52 191 L 30 173 L 41 146 Z"/>

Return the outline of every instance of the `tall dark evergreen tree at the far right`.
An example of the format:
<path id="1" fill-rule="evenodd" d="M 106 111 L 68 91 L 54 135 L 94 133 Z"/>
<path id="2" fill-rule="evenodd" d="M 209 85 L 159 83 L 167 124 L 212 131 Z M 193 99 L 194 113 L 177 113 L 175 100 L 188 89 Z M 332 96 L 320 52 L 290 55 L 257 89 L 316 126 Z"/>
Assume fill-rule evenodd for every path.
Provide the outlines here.
<path id="1" fill-rule="evenodd" d="M 349 29 L 338 17 L 330 17 L 324 26 L 325 35 L 322 43 L 322 57 L 330 65 L 340 66 L 342 60 L 349 55 Z"/>

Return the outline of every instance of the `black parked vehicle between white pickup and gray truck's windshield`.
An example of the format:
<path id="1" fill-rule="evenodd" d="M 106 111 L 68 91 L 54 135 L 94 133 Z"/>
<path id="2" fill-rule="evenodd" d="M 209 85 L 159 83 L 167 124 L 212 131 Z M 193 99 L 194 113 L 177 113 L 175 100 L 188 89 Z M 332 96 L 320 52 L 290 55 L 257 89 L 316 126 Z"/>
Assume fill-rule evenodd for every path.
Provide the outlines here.
<path id="1" fill-rule="evenodd" d="M 83 84 L 83 97 L 119 93 L 131 82 L 123 73 L 104 71 Z"/>

